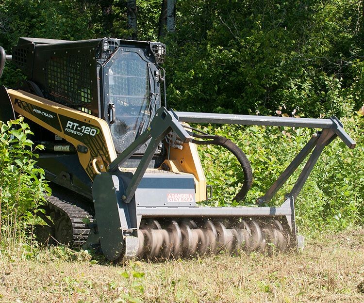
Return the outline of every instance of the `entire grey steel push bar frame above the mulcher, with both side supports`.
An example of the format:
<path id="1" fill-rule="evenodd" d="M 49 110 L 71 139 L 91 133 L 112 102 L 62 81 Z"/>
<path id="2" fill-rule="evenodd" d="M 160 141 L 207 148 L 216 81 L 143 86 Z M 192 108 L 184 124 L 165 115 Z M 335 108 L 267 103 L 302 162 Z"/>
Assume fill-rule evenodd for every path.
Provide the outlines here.
<path id="1" fill-rule="evenodd" d="M 309 119 L 309 118 L 288 118 L 288 117 L 271 117 L 271 116 L 250 116 L 250 115 L 233 115 L 233 114 L 214 114 L 200 112 L 174 112 L 167 111 L 161 107 L 153 117 L 150 126 L 127 148 L 122 152 L 108 167 L 109 173 L 116 172 L 118 167 L 129 159 L 132 154 L 149 139 L 150 143 L 146 153 L 142 157 L 132 180 L 129 183 L 122 199 L 124 203 L 130 203 L 135 191 L 145 174 L 148 164 L 154 155 L 160 141 L 171 130 L 175 131 L 183 142 L 190 142 L 192 137 L 182 127 L 183 122 L 193 123 L 218 123 L 218 124 L 239 124 L 239 125 L 265 125 L 265 126 L 285 126 L 285 127 L 305 127 L 305 128 L 322 128 L 314 134 L 313 138 L 302 148 L 298 155 L 292 160 L 288 167 L 282 172 L 274 184 L 265 192 L 265 195 L 257 199 L 257 204 L 262 205 L 269 202 L 277 191 L 283 186 L 288 178 L 296 171 L 298 166 L 310 154 L 304 168 L 292 190 L 285 195 L 287 199 L 296 200 L 299 192 L 304 186 L 314 165 L 321 155 L 324 147 L 339 137 L 349 148 L 354 148 L 356 143 L 344 130 L 342 123 L 335 116 L 329 119 Z M 261 215 L 262 212 L 257 213 Z"/>

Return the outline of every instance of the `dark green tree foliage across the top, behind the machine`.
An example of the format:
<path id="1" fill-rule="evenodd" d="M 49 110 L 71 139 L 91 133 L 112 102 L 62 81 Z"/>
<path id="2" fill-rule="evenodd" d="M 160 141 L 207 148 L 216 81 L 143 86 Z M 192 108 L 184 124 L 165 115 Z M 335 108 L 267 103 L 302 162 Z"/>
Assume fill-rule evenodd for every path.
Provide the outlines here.
<path id="1" fill-rule="evenodd" d="M 107 3 L 110 16 L 101 9 Z M 157 40 L 162 1 L 136 5 L 138 39 Z M 311 117 L 350 115 L 364 95 L 362 5 L 356 0 L 178 1 L 176 32 L 163 38 L 169 105 L 262 114 L 285 105 Z M 104 28 L 106 18 L 111 28 Z M 8 53 L 20 36 L 131 36 L 122 0 L 4 0 L 0 29 L 0 45 Z M 14 86 L 21 73 L 7 65 L 1 83 Z"/>

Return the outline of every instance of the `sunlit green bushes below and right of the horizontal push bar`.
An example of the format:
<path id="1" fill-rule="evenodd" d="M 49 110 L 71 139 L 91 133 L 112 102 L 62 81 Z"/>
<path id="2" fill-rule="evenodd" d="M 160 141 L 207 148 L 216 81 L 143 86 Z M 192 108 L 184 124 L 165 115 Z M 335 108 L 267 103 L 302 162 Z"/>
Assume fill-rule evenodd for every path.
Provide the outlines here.
<path id="1" fill-rule="evenodd" d="M 358 116 L 344 122 L 358 147 L 350 150 L 336 139 L 325 148 L 296 203 L 298 226 L 306 230 L 337 230 L 364 223 L 364 122 Z M 303 128 L 224 125 L 202 129 L 231 139 L 251 162 L 254 179 L 244 205 L 254 204 L 264 195 L 313 135 L 313 130 Z M 215 202 L 210 204 L 238 205 L 232 201 L 244 180 L 238 161 L 229 151 L 215 145 L 199 145 L 199 153 L 208 183 L 215 189 Z M 283 202 L 284 194 L 290 191 L 302 168 L 303 164 L 270 205 Z"/>

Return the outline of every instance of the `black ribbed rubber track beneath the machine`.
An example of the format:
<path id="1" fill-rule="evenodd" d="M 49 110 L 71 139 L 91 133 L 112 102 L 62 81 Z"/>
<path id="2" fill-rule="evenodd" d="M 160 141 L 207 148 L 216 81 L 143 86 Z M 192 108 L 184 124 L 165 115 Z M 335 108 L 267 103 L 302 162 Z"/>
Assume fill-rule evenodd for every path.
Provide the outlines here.
<path id="1" fill-rule="evenodd" d="M 80 247 L 86 241 L 90 228 L 87 223 L 83 223 L 83 219 L 89 218 L 90 223 L 93 222 L 92 215 L 80 205 L 80 201 L 73 200 L 72 197 L 60 199 L 56 196 L 46 198 L 49 207 L 55 208 L 61 216 L 66 216 L 72 223 L 72 242 L 69 243 L 72 247 Z"/>

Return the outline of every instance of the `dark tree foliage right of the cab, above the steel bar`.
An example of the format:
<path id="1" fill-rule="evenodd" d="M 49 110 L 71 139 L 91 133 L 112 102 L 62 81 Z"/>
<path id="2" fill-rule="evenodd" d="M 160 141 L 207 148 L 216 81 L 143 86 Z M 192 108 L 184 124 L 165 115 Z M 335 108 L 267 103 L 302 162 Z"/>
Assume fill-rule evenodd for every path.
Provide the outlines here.
<path id="1" fill-rule="evenodd" d="M 272 113 L 285 104 L 308 116 L 349 115 L 364 89 L 357 5 L 182 1 L 186 15 L 166 64 L 170 104 L 234 113 Z"/>

